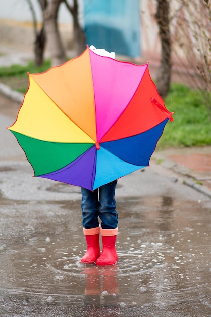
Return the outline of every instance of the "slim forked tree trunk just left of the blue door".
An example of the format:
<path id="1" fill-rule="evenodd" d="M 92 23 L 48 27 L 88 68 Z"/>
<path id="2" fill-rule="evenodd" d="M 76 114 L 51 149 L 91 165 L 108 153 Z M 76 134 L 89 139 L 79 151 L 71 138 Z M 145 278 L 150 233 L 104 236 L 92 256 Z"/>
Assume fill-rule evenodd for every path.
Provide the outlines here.
<path id="1" fill-rule="evenodd" d="M 78 21 L 78 2 L 74 0 L 73 6 L 70 6 L 67 0 L 64 2 L 73 16 L 74 47 L 76 54 L 80 55 L 85 49 L 86 36 Z"/>

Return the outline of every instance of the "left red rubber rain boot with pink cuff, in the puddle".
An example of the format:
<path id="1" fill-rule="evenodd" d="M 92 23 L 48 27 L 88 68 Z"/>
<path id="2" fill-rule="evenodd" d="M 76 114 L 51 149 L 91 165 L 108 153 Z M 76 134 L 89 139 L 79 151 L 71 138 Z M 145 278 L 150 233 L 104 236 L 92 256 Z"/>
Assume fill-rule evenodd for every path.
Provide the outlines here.
<path id="1" fill-rule="evenodd" d="M 87 250 L 80 261 L 81 263 L 93 264 L 100 256 L 99 232 L 100 226 L 92 229 L 83 228 L 83 233 L 86 237 Z"/>

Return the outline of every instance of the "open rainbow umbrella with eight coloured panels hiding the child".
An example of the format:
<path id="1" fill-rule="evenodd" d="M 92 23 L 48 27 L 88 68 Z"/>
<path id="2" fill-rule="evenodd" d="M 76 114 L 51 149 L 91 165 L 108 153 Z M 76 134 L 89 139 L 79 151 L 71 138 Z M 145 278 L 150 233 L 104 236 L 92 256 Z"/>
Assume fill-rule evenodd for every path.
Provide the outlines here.
<path id="1" fill-rule="evenodd" d="M 60 66 L 29 74 L 8 129 L 34 176 L 94 190 L 148 166 L 168 120 L 148 63 L 103 57 L 87 46 Z"/>

